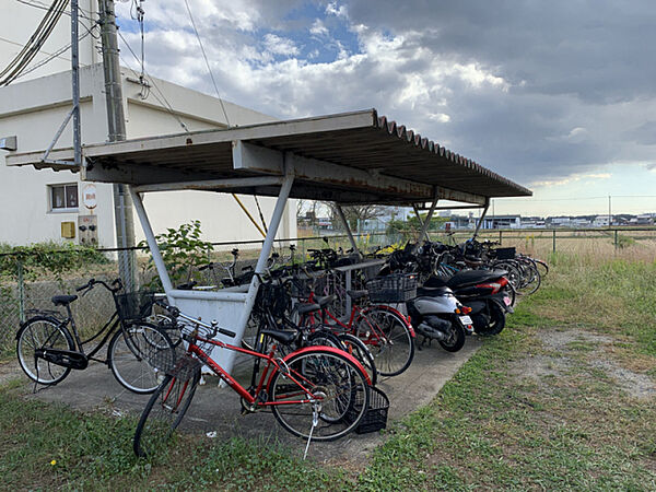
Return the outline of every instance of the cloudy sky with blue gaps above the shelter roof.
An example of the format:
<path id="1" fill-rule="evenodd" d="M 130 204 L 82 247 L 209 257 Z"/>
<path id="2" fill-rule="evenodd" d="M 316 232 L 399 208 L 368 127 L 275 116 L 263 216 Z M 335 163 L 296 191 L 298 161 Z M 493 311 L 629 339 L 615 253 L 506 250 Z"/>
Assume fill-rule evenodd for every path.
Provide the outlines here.
<path id="1" fill-rule="evenodd" d="M 496 213 L 606 213 L 609 196 L 656 212 L 653 0 L 187 1 L 227 101 L 283 119 L 376 108 L 534 191 Z M 147 71 L 216 95 L 185 1 L 142 5 Z M 131 10 L 117 2 L 139 52 Z"/>

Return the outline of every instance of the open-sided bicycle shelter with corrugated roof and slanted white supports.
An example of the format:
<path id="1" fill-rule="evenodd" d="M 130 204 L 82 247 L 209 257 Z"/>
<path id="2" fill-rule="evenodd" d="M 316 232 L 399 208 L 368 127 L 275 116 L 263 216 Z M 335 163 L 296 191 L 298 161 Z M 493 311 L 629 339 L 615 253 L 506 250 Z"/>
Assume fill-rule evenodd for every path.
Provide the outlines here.
<path id="1" fill-rule="evenodd" d="M 420 209 L 427 209 L 423 237 L 441 199 L 468 203 L 448 209 L 482 208 L 478 233 L 491 198 L 531 195 L 473 161 L 378 117 L 375 109 L 93 144 L 84 147 L 82 154 L 79 169 L 61 164 L 73 160 L 72 149 L 50 152 L 59 164 L 44 163 L 43 152 L 10 154 L 7 164 L 80 171 L 82 180 L 128 185 L 168 302 L 232 329 L 236 339 L 219 338 L 233 344 L 244 335 L 258 277 L 247 285 L 218 292 L 175 289 L 142 194 L 192 189 L 276 197 L 256 273 L 265 272 L 289 198 L 335 202 L 358 251 L 342 206 L 411 206 L 418 216 Z M 224 351 L 215 359 L 232 370 L 234 352 Z"/>

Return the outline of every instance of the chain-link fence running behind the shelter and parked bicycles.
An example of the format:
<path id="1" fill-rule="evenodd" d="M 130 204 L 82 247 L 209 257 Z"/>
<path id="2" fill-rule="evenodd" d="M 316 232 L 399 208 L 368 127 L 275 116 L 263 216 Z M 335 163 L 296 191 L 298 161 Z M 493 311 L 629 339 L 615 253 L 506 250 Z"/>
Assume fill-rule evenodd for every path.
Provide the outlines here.
<path id="1" fill-rule="evenodd" d="M 406 241 L 415 241 L 417 231 L 398 232 L 393 235 L 362 234 L 355 237 L 363 253 L 371 253 L 387 245 L 402 245 Z M 433 241 L 447 244 L 460 243 L 471 237 L 471 231 L 456 231 L 450 234 L 432 232 Z M 479 239 L 500 241 L 504 246 L 516 246 L 518 250 L 529 255 L 547 256 L 552 251 L 570 254 L 612 256 L 622 251 L 623 256 L 635 258 L 653 258 L 656 256 L 656 229 L 616 229 L 616 230 L 504 230 L 481 231 Z M 183 268 L 178 278 L 173 279 L 175 285 L 196 282 L 198 286 L 214 288 L 225 284 L 225 279 L 238 277 L 254 269 L 261 250 L 262 241 L 237 243 L 212 243 L 212 249 L 207 255 L 208 265 L 213 268 Z M 293 245 L 293 248 L 290 246 Z M 330 247 L 347 253 L 351 248 L 347 235 L 330 235 L 320 237 L 301 237 L 294 239 L 278 239 L 271 261 L 284 265 L 291 261 L 304 261 L 312 249 Z M 235 256 L 231 251 L 238 248 Z M 89 279 L 113 281 L 121 277 L 119 268 L 120 255 L 117 249 L 98 250 L 95 256 L 74 261 L 63 271 L 52 273 L 44 268 L 35 268 L 30 258 L 23 255 L 0 254 L 4 261 L 3 276 L 0 277 L 0 354 L 14 350 L 15 332 L 22 321 L 27 319 L 34 309 L 56 309 L 51 297 L 58 294 L 75 294 L 75 288 L 84 285 Z M 138 289 L 157 290 L 157 276 L 147 250 L 136 251 L 136 261 L 131 269 Z M 74 253 L 59 251 L 60 255 Z M 184 258 L 180 260 L 184 262 Z M 204 259 L 203 259 L 204 261 Z M 70 263 L 70 261 L 69 261 Z M 9 267 L 8 267 L 9 265 Z M 332 293 L 336 290 L 348 289 L 347 271 L 336 272 L 326 280 L 321 293 Z M 330 285 L 328 285 L 330 284 Z M 75 323 L 82 336 L 92 335 L 108 319 L 114 312 L 112 294 L 102 286 L 96 286 L 84 296 L 71 304 Z"/>

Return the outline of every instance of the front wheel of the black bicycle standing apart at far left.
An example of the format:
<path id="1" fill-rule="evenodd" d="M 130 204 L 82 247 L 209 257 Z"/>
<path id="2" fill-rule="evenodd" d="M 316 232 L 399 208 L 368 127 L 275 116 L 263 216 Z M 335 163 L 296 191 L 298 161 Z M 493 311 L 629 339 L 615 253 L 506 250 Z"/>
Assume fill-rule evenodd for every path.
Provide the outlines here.
<path id="1" fill-rule="evenodd" d="M 165 331 L 149 323 L 117 330 L 107 348 L 107 363 L 116 380 L 140 395 L 157 389 L 174 362 L 173 342 Z"/>

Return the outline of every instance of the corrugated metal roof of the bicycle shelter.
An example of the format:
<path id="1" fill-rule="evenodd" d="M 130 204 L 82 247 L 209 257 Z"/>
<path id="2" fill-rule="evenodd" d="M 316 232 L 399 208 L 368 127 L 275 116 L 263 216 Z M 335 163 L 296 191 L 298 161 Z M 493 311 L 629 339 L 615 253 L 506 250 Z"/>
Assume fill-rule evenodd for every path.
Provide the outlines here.
<path id="1" fill-rule="evenodd" d="M 332 166 L 335 179 L 298 174 L 291 194 L 295 198 L 419 202 L 426 200 L 427 186 L 487 198 L 531 195 L 527 188 L 405 126 L 378 117 L 375 109 L 89 145 L 83 154 L 95 169 L 90 177 L 104 180 L 97 171 L 114 168 L 120 171 L 120 178 L 113 175 L 113 180 L 133 185 L 179 181 L 185 188 L 184 181 L 190 180 L 271 174 L 270 169 L 235 168 L 236 141 L 312 160 L 324 168 Z M 70 151 L 59 151 L 50 156 L 61 160 L 68 154 Z M 44 166 L 39 161 L 38 153 L 8 156 L 9 165 Z M 342 178 L 340 169 L 360 173 L 360 177 Z M 395 180 L 403 186 L 395 186 Z M 276 195 L 277 187 L 236 191 Z"/>

